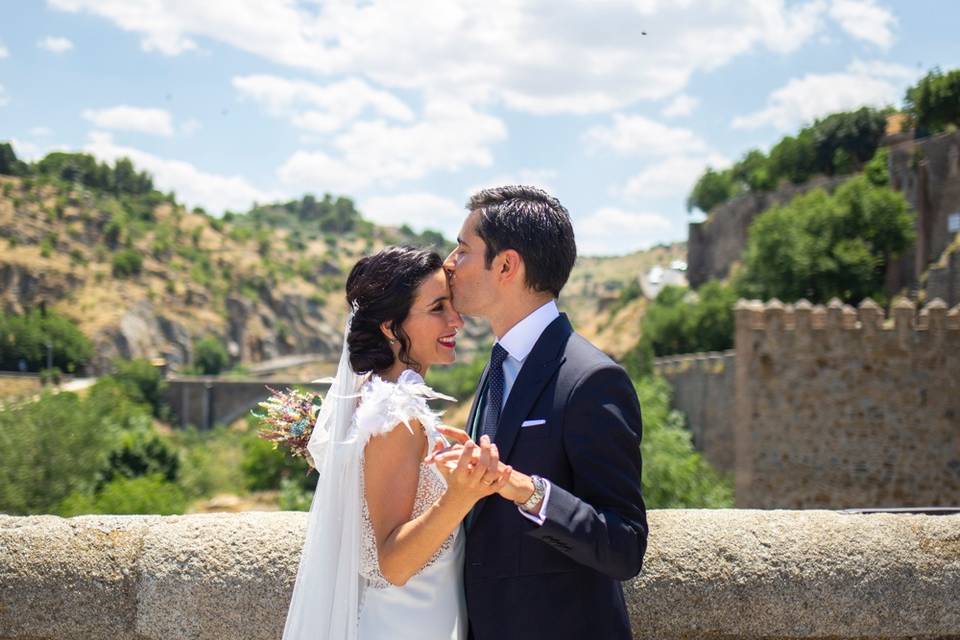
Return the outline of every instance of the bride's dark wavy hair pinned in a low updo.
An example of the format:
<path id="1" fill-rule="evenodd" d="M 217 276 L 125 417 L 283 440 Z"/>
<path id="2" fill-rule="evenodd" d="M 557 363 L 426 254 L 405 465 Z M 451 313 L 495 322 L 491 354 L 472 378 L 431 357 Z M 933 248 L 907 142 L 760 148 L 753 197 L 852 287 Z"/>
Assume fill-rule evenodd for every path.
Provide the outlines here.
<path id="1" fill-rule="evenodd" d="M 356 373 L 385 371 L 393 365 L 393 350 L 380 330 L 384 322 L 389 323 L 400 343 L 400 361 L 420 370 L 420 365 L 410 359 L 410 339 L 401 325 L 410 313 L 417 288 L 441 268 L 443 258 L 439 254 L 413 247 L 387 247 L 353 266 L 347 277 L 347 302 L 356 305 L 357 311 L 347 346 L 350 366 Z"/>

